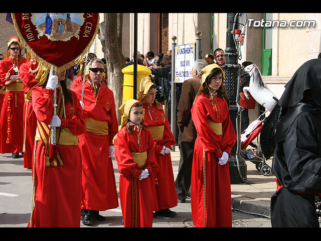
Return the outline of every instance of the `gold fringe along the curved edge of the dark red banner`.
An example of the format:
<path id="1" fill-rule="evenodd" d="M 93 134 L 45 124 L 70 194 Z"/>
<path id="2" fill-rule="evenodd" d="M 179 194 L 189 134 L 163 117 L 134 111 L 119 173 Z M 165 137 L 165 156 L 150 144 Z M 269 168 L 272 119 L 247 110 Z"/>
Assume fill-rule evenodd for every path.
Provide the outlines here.
<path id="1" fill-rule="evenodd" d="M 81 54 L 79 54 L 74 60 L 70 61 L 69 63 L 67 64 L 64 64 L 63 66 L 56 66 L 52 63 L 49 63 L 47 62 L 46 60 L 44 60 L 43 58 L 39 57 L 38 54 L 35 53 L 35 51 L 29 46 L 29 44 L 27 43 L 27 41 L 24 39 L 24 37 L 22 36 L 21 32 L 20 32 L 20 29 L 18 27 L 18 23 L 16 21 L 16 17 L 15 17 L 15 14 L 12 13 L 11 14 L 11 18 L 13 20 L 13 23 L 14 23 L 14 26 L 15 26 L 15 29 L 17 31 L 17 34 L 18 34 L 18 37 L 20 39 L 20 42 L 24 45 L 24 47 L 27 49 L 27 53 L 30 53 L 31 56 L 36 59 L 37 62 L 39 62 L 39 64 L 41 64 L 42 66 L 44 66 L 46 69 L 53 69 L 54 71 L 56 71 L 57 73 L 59 72 L 62 72 L 66 69 L 68 69 L 69 67 L 71 66 L 74 66 L 75 64 L 78 64 L 80 61 L 82 61 L 85 56 L 86 56 L 86 53 L 87 51 L 89 51 L 91 45 L 93 44 L 93 42 L 95 41 L 95 38 L 96 38 L 96 35 L 98 33 L 98 30 L 99 30 L 99 14 L 97 15 L 97 26 L 96 26 L 96 29 L 95 29 L 95 33 L 91 39 L 91 41 L 89 42 L 89 44 L 85 47 L 85 49 L 82 51 Z"/>

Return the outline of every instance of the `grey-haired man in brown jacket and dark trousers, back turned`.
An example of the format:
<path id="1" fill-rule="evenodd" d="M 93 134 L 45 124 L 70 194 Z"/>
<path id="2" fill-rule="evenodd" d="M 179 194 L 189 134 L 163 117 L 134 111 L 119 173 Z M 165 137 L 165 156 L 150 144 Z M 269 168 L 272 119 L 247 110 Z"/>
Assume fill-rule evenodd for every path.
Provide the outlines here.
<path id="1" fill-rule="evenodd" d="M 201 86 L 202 72 L 200 70 L 206 65 L 208 63 L 205 60 L 195 61 L 192 68 L 193 78 L 183 82 L 182 95 L 178 104 L 177 125 L 180 130 L 178 142 L 181 158 L 175 186 L 179 202 L 185 202 L 191 187 L 194 143 L 197 137 L 192 121 L 191 108 Z"/>

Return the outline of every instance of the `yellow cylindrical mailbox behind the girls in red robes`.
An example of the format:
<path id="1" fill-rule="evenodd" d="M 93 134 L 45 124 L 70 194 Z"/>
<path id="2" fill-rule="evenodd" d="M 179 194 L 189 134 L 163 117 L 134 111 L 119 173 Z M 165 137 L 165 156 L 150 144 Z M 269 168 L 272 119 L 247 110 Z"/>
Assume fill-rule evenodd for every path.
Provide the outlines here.
<path id="1" fill-rule="evenodd" d="M 137 96 L 133 96 L 134 93 L 134 65 L 128 65 L 123 68 L 122 73 L 124 74 L 124 83 L 123 83 L 123 97 L 122 103 L 128 99 L 136 99 Z M 139 84 L 141 79 L 149 76 L 151 70 L 140 64 L 137 65 L 137 93 L 139 92 Z"/>

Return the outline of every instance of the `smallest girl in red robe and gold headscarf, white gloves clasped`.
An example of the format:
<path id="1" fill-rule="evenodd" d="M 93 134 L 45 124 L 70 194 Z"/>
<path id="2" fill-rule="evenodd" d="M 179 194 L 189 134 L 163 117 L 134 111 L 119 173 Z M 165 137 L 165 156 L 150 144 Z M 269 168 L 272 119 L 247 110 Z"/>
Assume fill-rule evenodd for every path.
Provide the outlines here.
<path id="1" fill-rule="evenodd" d="M 129 99 L 118 111 L 122 128 L 115 138 L 115 159 L 124 227 L 152 227 L 155 186 L 151 174 L 159 170 L 152 135 L 144 125 L 139 101 Z"/>

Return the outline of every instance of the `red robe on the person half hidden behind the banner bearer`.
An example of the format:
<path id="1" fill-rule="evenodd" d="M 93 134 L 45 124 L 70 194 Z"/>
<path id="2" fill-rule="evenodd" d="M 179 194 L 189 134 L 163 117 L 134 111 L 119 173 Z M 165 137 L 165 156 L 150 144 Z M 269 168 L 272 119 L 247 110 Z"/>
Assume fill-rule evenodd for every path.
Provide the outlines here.
<path id="1" fill-rule="evenodd" d="M 25 104 L 24 104 L 24 167 L 32 168 L 32 154 L 35 144 L 35 135 L 37 130 L 37 117 L 32 107 L 32 88 L 38 84 L 35 79 L 38 71 L 30 72 L 30 68 L 35 70 L 38 63 L 32 64 L 32 61 L 21 65 L 19 77 L 24 83 Z"/>

